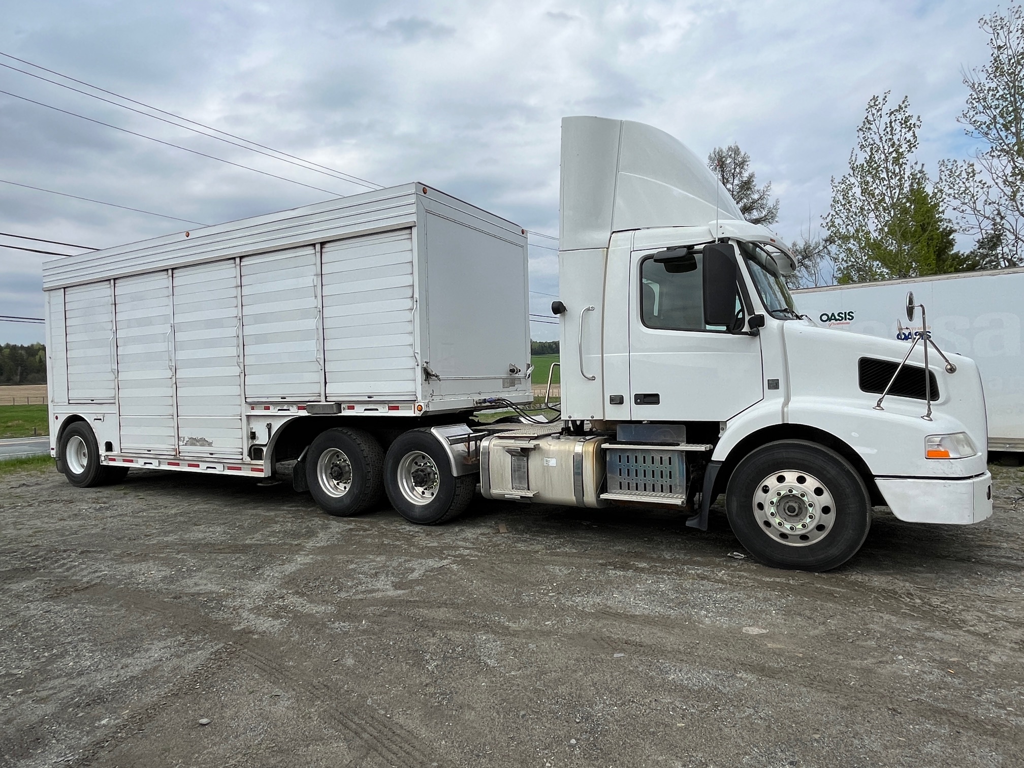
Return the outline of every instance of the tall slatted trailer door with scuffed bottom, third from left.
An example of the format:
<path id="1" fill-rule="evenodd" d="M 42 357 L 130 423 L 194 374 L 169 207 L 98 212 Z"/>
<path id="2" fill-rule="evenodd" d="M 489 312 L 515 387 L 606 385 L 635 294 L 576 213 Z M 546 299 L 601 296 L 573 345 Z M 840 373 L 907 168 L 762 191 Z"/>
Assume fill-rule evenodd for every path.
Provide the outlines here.
<path id="1" fill-rule="evenodd" d="M 242 456 L 242 364 L 234 260 L 174 270 L 178 453 Z"/>

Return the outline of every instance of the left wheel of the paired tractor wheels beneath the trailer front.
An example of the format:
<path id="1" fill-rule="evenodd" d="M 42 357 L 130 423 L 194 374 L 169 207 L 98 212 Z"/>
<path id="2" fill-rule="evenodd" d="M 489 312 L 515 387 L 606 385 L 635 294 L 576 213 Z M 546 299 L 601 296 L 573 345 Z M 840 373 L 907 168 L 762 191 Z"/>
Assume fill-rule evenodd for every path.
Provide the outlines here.
<path id="1" fill-rule="evenodd" d="M 321 432 L 306 454 L 306 482 L 317 506 L 330 515 L 366 512 L 381 498 L 384 452 L 361 429 Z"/>

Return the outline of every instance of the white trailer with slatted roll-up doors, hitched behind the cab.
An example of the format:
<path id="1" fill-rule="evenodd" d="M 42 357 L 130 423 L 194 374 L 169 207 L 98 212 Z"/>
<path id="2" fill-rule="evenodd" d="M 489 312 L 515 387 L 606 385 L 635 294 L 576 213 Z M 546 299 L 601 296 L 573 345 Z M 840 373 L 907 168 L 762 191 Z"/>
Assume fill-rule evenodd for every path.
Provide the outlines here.
<path id="1" fill-rule="evenodd" d="M 83 485 L 126 466 L 267 475 L 324 432 L 376 464 L 411 428 L 530 402 L 525 243 L 406 184 L 47 262 L 51 451 Z M 318 501 L 348 513 L 343 497 Z"/>

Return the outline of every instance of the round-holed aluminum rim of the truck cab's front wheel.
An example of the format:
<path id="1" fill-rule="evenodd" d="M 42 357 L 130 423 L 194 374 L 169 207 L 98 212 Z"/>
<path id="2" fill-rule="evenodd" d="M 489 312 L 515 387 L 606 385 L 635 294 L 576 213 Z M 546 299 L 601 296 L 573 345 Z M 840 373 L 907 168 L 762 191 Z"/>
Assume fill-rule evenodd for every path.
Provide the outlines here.
<path id="1" fill-rule="evenodd" d="M 754 492 L 754 517 L 772 541 L 809 547 L 836 523 L 836 501 L 827 486 L 803 470 L 772 472 Z"/>

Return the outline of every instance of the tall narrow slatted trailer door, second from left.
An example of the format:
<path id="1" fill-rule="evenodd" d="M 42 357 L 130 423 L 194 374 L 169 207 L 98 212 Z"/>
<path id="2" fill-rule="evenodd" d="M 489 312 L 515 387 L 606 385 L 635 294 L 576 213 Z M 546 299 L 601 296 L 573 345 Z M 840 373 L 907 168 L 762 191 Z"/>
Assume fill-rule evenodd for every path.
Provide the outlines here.
<path id="1" fill-rule="evenodd" d="M 119 278 L 118 411 L 121 451 L 173 454 L 174 356 L 167 272 Z"/>

